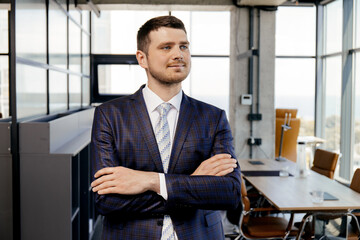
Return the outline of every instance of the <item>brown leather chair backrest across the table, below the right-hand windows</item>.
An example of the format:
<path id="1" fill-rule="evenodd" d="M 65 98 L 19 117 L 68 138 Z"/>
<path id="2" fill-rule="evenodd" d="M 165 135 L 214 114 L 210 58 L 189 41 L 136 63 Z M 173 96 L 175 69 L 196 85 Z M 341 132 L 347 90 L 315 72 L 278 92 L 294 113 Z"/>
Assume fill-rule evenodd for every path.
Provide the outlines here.
<path id="1" fill-rule="evenodd" d="M 311 170 L 330 179 L 334 179 L 334 172 L 338 159 L 339 154 L 337 153 L 329 152 L 323 149 L 316 149 Z"/>

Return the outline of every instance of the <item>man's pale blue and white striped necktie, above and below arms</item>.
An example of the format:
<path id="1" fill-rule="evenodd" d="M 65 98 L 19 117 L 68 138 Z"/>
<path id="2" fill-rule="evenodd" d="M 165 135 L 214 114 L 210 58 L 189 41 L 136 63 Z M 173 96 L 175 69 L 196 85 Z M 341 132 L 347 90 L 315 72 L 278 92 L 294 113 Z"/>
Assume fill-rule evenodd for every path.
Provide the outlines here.
<path id="1" fill-rule="evenodd" d="M 157 107 L 160 114 L 159 121 L 155 126 L 155 137 L 160 151 L 160 156 L 164 168 L 167 173 L 170 162 L 170 129 L 167 121 L 167 114 L 171 109 L 170 103 L 162 103 Z M 169 215 L 164 216 L 164 223 L 161 233 L 161 240 L 176 240 L 175 230 Z"/>

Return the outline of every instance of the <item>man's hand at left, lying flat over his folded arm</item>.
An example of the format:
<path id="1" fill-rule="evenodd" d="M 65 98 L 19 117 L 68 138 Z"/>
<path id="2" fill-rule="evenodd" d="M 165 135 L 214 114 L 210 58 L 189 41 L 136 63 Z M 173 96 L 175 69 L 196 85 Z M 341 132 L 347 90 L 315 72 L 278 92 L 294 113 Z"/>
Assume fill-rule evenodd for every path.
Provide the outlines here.
<path id="1" fill-rule="evenodd" d="M 93 192 L 99 195 L 117 193 L 134 195 L 148 190 L 159 193 L 159 174 L 132 170 L 125 167 L 103 168 L 95 173 L 95 181 L 91 183 Z"/>

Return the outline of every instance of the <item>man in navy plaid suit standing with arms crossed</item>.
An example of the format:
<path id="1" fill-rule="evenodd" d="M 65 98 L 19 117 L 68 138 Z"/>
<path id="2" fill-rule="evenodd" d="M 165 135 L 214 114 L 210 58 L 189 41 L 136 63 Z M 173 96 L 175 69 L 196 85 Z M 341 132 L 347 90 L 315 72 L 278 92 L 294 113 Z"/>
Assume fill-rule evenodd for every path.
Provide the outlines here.
<path id="1" fill-rule="evenodd" d="M 191 56 L 184 24 L 150 19 L 138 31 L 148 82 L 98 106 L 93 191 L 103 239 L 224 239 L 218 211 L 240 204 L 240 168 L 225 112 L 186 96 Z"/>

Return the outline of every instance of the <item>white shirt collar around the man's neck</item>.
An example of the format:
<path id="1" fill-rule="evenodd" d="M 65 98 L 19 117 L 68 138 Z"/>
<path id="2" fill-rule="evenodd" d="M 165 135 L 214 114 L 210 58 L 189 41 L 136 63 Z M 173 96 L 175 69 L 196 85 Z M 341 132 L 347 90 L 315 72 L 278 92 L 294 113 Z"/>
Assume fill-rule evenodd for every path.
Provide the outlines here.
<path id="1" fill-rule="evenodd" d="M 176 94 L 173 98 L 171 98 L 168 103 L 170 103 L 173 108 L 175 108 L 178 112 L 180 111 L 180 105 L 182 100 L 182 90 L 179 91 L 178 94 Z M 146 107 L 149 111 L 149 113 L 156 110 L 156 108 L 163 103 L 164 101 L 156 95 L 149 87 L 148 85 L 145 86 L 143 89 L 143 96 L 145 99 Z"/>

